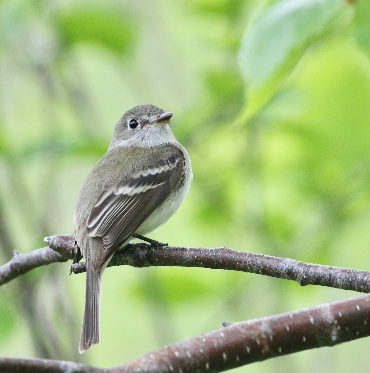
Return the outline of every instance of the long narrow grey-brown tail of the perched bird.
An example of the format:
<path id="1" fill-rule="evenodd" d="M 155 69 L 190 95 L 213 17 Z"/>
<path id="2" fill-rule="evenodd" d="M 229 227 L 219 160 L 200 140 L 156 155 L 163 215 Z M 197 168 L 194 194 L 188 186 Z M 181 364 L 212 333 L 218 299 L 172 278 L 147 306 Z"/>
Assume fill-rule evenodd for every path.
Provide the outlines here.
<path id="1" fill-rule="evenodd" d="M 84 321 L 82 323 L 80 345 L 78 346 L 80 354 L 88 350 L 91 345 L 99 343 L 100 293 L 102 287 L 102 275 L 105 268 L 93 272 L 92 264 L 93 263 L 91 263 L 87 257 L 85 312 Z"/>

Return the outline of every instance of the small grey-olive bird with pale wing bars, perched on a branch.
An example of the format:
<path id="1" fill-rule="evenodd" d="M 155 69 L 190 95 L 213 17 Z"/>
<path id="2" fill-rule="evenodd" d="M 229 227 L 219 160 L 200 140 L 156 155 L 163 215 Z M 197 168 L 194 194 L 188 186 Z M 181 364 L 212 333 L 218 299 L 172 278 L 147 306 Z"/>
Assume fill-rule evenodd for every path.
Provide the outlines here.
<path id="1" fill-rule="evenodd" d="M 86 262 L 80 353 L 99 343 L 102 275 L 114 252 L 167 222 L 189 191 L 190 158 L 172 134 L 171 117 L 154 105 L 128 110 L 81 188 L 74 216 L 74 263 Z"/>

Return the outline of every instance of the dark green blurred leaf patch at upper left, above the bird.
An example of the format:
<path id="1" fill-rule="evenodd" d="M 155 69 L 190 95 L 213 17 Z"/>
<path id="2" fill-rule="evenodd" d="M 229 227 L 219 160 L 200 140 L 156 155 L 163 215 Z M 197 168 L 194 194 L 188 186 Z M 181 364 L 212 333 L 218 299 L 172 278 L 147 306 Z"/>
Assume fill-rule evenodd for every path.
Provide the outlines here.
<path id="1" fill-rule="evenodd" d="M 130 47 L 135 29 L 124 13 L 91 4 L 63 9 L 57 23 L 67 46 L 90 42 L 119 54 Z"/>

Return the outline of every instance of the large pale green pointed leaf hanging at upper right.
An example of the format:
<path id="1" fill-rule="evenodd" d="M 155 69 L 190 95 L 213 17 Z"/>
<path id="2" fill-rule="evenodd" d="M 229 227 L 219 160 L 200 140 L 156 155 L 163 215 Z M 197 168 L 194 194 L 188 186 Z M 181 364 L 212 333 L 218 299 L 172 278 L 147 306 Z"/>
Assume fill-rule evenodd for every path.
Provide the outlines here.
<path id="1" fill-rule="evenodd" d="M 343 0 L 284 0 L 262 10 L 247 28 L 239 63 L 249 84 L 249 115 L 267 103 L 299 54 L 343 13 Z"/>

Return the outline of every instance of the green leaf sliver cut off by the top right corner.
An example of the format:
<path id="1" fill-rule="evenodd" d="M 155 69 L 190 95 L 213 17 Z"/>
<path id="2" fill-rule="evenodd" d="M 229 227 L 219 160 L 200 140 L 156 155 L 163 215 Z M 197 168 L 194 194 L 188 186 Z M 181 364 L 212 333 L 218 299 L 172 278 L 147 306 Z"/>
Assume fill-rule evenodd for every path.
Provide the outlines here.
<path id="1" fill-rule="evenodd" d="M 370 1 L 358 0 L 355 9 L 355 38 L 361 49 L 370 57 Z"/>

